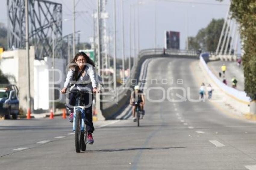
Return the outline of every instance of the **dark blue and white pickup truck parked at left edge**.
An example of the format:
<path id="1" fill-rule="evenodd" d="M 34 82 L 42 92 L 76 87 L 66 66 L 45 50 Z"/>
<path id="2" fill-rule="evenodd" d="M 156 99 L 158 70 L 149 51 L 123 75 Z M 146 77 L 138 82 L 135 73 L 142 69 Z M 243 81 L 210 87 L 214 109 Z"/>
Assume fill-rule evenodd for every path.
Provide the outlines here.
<path id="1" fill-rule="evenodd" d="M 0 84 L 0 116 L 17 119 L 19 114 L 18 88 L 13 84 Z"/>

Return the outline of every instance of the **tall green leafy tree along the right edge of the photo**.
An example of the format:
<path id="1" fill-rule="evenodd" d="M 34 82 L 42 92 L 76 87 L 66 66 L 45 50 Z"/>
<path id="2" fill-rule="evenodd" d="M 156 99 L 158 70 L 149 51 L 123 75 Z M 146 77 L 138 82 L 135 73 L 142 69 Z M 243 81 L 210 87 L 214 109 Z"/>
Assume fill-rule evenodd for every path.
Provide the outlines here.
<path id="1" fill-rule="evenodd" d="M 256 100 L 256 2 L 255 0 L 232 0 L 232 17 L 240 24 L 244 55 L 245 92 Z"/>

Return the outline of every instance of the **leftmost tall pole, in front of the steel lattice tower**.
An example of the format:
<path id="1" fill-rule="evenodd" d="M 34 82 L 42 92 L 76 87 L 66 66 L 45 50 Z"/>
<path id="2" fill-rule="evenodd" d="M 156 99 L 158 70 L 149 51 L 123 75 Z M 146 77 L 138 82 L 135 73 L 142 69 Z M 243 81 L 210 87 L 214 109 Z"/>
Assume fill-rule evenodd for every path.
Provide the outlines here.
<path id="1" fill-rule="evenodd" d="M 29 24 L 28 24 L 28 0 L 25 0 L 26 22 L 26 52 L 27 52 L 27 112 L 30 113 L 30 59 L 29 59 Z"/>

